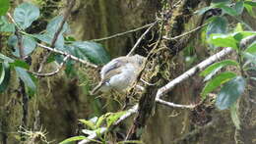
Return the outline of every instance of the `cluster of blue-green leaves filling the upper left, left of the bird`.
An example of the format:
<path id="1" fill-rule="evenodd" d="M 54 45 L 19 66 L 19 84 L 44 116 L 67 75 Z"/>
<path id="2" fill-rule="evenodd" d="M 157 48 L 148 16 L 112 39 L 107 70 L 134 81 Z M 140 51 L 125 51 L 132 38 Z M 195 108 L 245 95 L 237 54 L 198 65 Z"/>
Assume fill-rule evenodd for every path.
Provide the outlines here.
<path id="1" fill-rule="evenodd" d="M 6 7 L 9 7 L 9 1 L 1 1 L 1 3 L 2 2 L 6 3 Z M 6 13 L 6 10 L 4 9 L 6 8 L 1 7 L 0 12 L 2 15 Z M 31 3 L 27 2 L 19 5 L 14 10 L 14 21 L 16 22 L 16 24 L 10 24 L 5 16 L 1 16 L 0 31 L 10 32 L 11 36 L 9 37 L 8 40 L 8 46 L 14 50 L 13 56 L 15 56 L 15 58 L 11 59 L 9 57 L 4 56 L 3 54 L 0 54 L 0 92 L 4 92 L 4 90 L 6 90 L 12 73 L 11 71 L 14 70 L 17 73 L 18 77 L 20 77 L 25 82 L 25 85 L 28 89 L 27 92 L 35 92 L 36 85 L 34 81 L 36 81 L 36 78 L 29 73 L 30 66 L 26 64 L 24 60 L 20 60 L 20 48 L 18 45 L 18 37 L 15 33 L 15 26 L 17 26 L 18 29 L 20 28 L 19 30 L 22 33 L 21 41 L 22 46 L 24 47 L 24 55 L 26 57 L 29 57 L 30 55 L 32 55 L 32 52 L 36 49 L 37 41 L 45 42 L 51 45 L 52 39 L 54 38 L 54 34 L 58 29 L 58 25 L 63 20 L 62 16 L 57 16 L 47 24 L 46 29 L 43 33 L 27 33 L 26 29 L 29 28 L 32 25 L 32 23 L 39 18 L 39 16 L 39 9 L 36 6 L 32 5 Z M 72 41 L 70 41 L 70 36 L 67 35 L 68 31 L 69 25 L 65 23 L 54 45 L 56 49 L 74 55 L 80 59 L 91 61 L 92 63 L 95 63 L 97 65 L 105 64 L 110 60 L 109 55 L 104 50 L 102 45 L 91 41 L 78 42 L 75 41 L 74 38 Z M 68 38 L 65 39 L 64 36 Z M 59 62 L 59 58 L 63 59 L 63 57 L 55 55 L 55 59 L 53 59 L 53 61 Z M 67 66 L 70 69 L 70 71 L 72 71 L 73 69 L 73 64 L 74 63 L 67 63 Z"/>

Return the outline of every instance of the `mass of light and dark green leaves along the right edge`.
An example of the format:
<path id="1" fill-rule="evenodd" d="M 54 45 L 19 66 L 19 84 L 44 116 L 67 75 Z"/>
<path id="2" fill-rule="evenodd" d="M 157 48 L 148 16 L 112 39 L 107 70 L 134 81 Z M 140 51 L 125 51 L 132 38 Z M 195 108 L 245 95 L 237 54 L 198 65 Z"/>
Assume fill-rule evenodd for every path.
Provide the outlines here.
<path id="1" fill-rule="evenodd" d="M 253 42 L 246 48 L 242 47 L 243 39 L 248 36 L 256 35 L 255 31 L 252 31 L 248 24 L 243 23 L 237 17 L 241 15 L 244 9 L 255 17 L 253 13 L 253 7 L 256 6 L 256 2 L 252 0 L 236 1 L 231 3 L 230 0 L 215 0 L 211 6 L 203 8 L 196 13 L 202 15 L 208 11 L 214 9 L 221 9 L 219 16 L 214 16 L 209 19 L 209 24 L 206 28 L 207 42 L 211 47 L 230 47 L 232 48 L 237 57 L 237 62 L 233 60 L 223 60 L 221 62 L 214 63 L 208 67 L 205 71 L 201 72 L 201 76 L 205 76 L 204 81 L 207 81 L 202 92 L 202 99 L 205 99 L 211 92 L 220 90 L 217 99 L 216 107 L 220 110 L 230 108 L 230 115 L 234 125 L 239 127 L 239 119 L 236 113 L 237 99 L 244 93 L 246 89 L 246 83 L 250 75 L 245 74 L 246 71 L 255 69 L 256 64 L 256 44 Z M 236 24 L 236 27 L 232 29 L 228 27 L 228 21 L 225 16 L 232 17 L 235 20 L 241 22 Z M 248 30 L 243 30 L 245 27 Z M 234 68 L 237 72 L 221 72 L 224 68 Z"/>

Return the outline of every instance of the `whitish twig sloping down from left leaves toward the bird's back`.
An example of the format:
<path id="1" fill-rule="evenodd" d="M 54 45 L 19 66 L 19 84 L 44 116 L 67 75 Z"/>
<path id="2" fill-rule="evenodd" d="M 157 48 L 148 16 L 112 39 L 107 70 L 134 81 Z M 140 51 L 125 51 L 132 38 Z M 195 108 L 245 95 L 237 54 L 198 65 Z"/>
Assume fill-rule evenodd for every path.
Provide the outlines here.
<path id="1" fill-rule="evenodd" d="M 90 63 L 90 62 L 88 62 L 88 61 L 85 61 L 85 60 L 83 60 L 83 59 L 80 59 L 80 58 L 78 58 L 78 57 L 75 57 L 75 56 L 73 56 L 73 55 L 70 55 L 70 54 L 67 53 L 67 52 L 59 51 L 59 50 L 57 50 L 57 49 L 54 49 L 54 48 L 51 48 L 51 47 L 42 45 L 42 44 L 40 44 L 40 43 L 37 43 L 37 46 L 39 46 L 39 47 L 41 47 L 41 48 L 44 48 L 44 49 L 47 49 L 47 50 L 50 50 L 50 51 L 52 51 L 52 52 L 54 52 L 54 53 L 58 53 L 58 54 L 61 54 L 61 55 L 64 55 L 64 56 L 69 56 L 70 59 L 72 59 L 72 60 L 74 60 L 74 61 L 77 61 L 77 62 L 80 62 L 80 63 L 82 63 L 82 64 L 85 64 L 85 65 L 87 65 L 87 66 L 89 66 L 89 67 L 97 68 L 97 66 L 96 66 L 95 64 Z"/>

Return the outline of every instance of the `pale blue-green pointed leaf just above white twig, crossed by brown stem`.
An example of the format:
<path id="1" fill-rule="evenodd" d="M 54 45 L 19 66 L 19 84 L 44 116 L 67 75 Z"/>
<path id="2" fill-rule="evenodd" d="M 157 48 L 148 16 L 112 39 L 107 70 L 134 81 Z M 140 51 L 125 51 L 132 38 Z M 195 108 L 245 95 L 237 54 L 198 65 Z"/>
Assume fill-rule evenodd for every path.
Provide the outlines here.
<path id="1" fill-rule="evenodd" d="M 45 32 L 43 34 L 33 34 L 34 37 L 39 39 L 42 42 L 51 44 L 51 41 L 54 37 L 54 33 Z M 63 50 L 64 47 L 64 38 L 61 34 L 58 35 L 57 41 L 55 42 L 56 49 Z"/>

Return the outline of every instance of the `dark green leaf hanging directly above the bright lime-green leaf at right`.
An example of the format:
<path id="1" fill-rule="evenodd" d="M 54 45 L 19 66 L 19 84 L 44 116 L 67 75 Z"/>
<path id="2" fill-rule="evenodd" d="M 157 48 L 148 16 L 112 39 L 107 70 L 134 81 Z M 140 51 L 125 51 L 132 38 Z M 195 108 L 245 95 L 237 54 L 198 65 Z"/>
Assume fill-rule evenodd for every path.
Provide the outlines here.
<path id="1" fill-rule="evenodd" d="M 225 33 L 227 27 L 227 21 L 223 17 L 214 17 L 213 21 L 208 24 L 206 34 L 209 37 L 213 33 Z"/>

